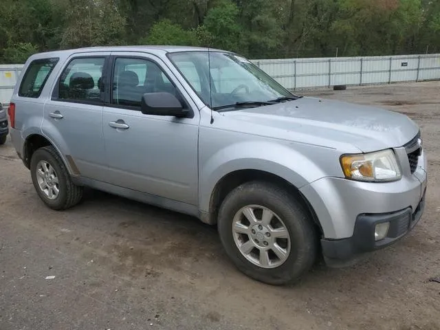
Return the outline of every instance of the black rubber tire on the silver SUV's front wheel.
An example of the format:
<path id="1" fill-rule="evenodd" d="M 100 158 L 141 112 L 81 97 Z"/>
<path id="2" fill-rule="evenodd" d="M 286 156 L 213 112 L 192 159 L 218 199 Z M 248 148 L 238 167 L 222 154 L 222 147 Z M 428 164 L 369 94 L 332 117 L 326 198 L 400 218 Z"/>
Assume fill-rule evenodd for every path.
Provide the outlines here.
<path id="1" fill-rule="evenodd" d="M 258 228 L 252 227 L 257 230 L 256 235 L 260 234 L 260 239 L 265 237 L 264 240 L 266 240 L 266 236 L 270 235 L 270 232 L 264 232 L 265 230 L 274 230 L 276 223 L 283 223 L 284 228 L 287 229 L 289 234 L 289 244 L 285 244 L 285 239 L 273 239 L 276 234 L 272 232 L 272 243 L 271 241 L 263 241 L 265 245 L 269 244 L 269 247 L 262 247 L 260 245 L 256 250 L 253 248 L 252 252 L 245 256 L 238 245 L 243 243 L 243 241 L 245 243 L 250 241 L 250 243 L 254 244 L 252 237 L 255 239 L 256 236 L 249 229 L 251 225 L 248 225 L 248 229 L 245 229 L 250 234 L 237 234 L 232 229 L 232 225 L 236 223 L 237 219 L 242 219 L 240 220 L 240 225 L 243 225 L 243 221 L 250 222 L 248 217 L 241 215 L 241 212 L 245 214 L 246 206 L 263 206 L 263 210 L 270 210 L 273 213 L 273 217 L 269 217 L 272 219 L 271 225 L 263 227 L 261 232 L 263 235 L 258 232 L 260 230 L 258 227 L 259 222 L 256 222 Z M 263 212 L 265 212 L 263 210 L 260 210 L 258 207 L 253 208 L 252 214 L 257 219 L 259 217 L 263 219 Z M 258 212 L 261 214 L 257 214 Z M 308 272 L 318 255 L 318 236 L 309 213 L 305 211 L 302 204 L 293 195 L 274 184 L 252 181 L 232 190 L 220 206 L 218 230 L 223 248 L 236 267 L 244 274 L 263 283 L 284 285 L 298 281 L 303 274 Z M 237 236 L 239 238 L 236 238 Z M 248 236 L 248 241 L 246 241 L 246 236 Z M 261 244 L 261 241 L 258 242 Z M 274 242 L 276 242 L 278 247 L 284 242 L 283 251 L 287 251 L 285 261 L 279 259 L 274 254 L 274 250 L 272 252 L 269 251 L 271 250 L 270 246 L 276 246 Z M 245 243 L 241 246 L 251 246 L 245 245 Z M 261 267 L 263 265 L 260 262 L 261 250 L 268 251 L 267 255 L 269 258 L 272 256 L 270 263 L 265 262 L 266 267 Z M 255 254 L 255 252 L 259 252 L 259 254 Z M 265 256 L 266 254 L 263 255 Z M 250 258 L 252 261 L 250 261 Z M 256 263 L 261 263 L 261 265 Z"/>

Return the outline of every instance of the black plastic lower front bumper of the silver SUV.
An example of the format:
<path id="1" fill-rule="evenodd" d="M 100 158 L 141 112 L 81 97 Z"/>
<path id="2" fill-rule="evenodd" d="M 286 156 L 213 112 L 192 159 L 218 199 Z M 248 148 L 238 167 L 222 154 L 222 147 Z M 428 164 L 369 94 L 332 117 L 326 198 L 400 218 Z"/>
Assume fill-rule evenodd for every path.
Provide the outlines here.
<path id="1" fill-rule="evenodd" d="M 426 190 L 425 190 L 426 191 Z M 355 221 L 353 236 L 348 239 L 322 239 L 322 254 L 326 262 L 331 265 L 333 261 L 348 261 L 359 254 L 379 250 L 391 245 L 406 236 L 419 222 L 425 208 L 425 193 L 417 208 L 405 208 L 397 212 L 382 214 L 360 214 Z M 385 239 L 375 241 L 375 225 L 390 222 L 390 229 Z"/>

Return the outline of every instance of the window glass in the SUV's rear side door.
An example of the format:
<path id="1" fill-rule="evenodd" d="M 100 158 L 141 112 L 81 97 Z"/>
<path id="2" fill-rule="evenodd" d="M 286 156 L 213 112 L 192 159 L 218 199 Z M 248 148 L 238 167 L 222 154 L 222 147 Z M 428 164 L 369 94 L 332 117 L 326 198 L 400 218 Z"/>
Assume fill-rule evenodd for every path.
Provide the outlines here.
<path id="1" fill-rule="evenodd" d="M 100 83 L 104 57 L 75 58 L 64 69 L 58 83 L 58 100 L 101 102 Z"/>

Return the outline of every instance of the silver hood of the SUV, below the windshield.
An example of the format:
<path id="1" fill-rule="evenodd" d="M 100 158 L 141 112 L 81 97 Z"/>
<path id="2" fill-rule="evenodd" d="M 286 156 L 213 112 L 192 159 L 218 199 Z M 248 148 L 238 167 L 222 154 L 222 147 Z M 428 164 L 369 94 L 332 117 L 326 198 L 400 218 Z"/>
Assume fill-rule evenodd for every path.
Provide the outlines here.
<path id="1" fill-rule="evenodd" d="M 319 98 L 304 97 L 221 114 L 265 126 L 261 135 L 332 148 L 338 148 L 340 142 L 362 152 L 403 146 L 419 131 L 417 124 L 401 113 Z M 277 136 L 281 131 L 283 134 Z"/>

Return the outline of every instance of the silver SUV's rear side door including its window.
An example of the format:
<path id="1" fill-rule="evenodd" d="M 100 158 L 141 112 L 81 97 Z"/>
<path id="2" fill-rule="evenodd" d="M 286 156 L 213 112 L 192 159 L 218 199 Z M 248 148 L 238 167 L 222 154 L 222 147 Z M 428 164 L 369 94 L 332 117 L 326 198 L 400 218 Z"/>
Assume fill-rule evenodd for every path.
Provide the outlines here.
<path id="1" fill-rule="evenodd" d="M 43 133 L 65 154 L 74 174 L 101 181 L 107 175 L 102 109 L 109 55 L 94 52 L 67 59 L 45 104 L 42 126 Z"/>

